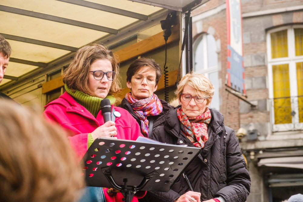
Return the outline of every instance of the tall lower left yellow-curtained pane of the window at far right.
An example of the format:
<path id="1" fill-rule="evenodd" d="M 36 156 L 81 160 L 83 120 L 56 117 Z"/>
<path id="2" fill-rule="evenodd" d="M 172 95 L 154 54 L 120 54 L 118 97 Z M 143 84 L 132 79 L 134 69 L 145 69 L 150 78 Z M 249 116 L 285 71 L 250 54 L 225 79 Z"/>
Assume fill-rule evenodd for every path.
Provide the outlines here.
<path id="1" fill-rule="evenodd" d="M 272 65 L 275 124 L 292 122 L 288 64 Z"/>

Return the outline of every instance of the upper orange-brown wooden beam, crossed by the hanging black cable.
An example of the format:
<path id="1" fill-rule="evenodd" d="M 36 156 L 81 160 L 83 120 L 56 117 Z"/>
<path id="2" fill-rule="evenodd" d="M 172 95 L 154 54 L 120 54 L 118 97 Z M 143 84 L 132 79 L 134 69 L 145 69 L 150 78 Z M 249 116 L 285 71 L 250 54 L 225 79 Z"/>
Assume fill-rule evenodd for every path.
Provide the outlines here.
<path id="1" fill-rule="evenodd" d="M 171 36 L 168 38 L 167 43 L 177 41 L 180 39 L 180 25 L 175 25 L 171 28 Z M 119 56 L 120 63 L 131 58 L 135 58 L 139 55 L 152 51 L 156 48 L 165 45 L 163 32 L 156 35 L 148 37 L 138 43 L 132 44 L 128 47 L 122 48 L 121 50 L 115 52 Z"/>

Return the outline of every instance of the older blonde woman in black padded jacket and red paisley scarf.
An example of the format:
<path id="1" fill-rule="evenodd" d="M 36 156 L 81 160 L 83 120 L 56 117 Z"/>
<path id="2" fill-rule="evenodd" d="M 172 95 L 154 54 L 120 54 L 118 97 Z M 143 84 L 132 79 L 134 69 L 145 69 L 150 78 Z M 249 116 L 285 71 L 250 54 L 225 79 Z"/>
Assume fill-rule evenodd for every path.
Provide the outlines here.
<path id="1" fill-rule="evenodd" d="M 209 108 L 214 87 L 202 74 L 185 75 L 177 86 L 179 106 L 157 120 L 151 138 L 167 144 L 201 148 L 168 193 L 148 192 L 158 202 L 243 202 L 250 177 L 235 131 L 223 115 Z M 181 165 L 182 159 L 180 159 Z M 188 178 L 188 180 L 186 179 Z M 172 183 L 172 182 L 171 182 Z M 192 189 L 191 189 L 192 187 Z"/>

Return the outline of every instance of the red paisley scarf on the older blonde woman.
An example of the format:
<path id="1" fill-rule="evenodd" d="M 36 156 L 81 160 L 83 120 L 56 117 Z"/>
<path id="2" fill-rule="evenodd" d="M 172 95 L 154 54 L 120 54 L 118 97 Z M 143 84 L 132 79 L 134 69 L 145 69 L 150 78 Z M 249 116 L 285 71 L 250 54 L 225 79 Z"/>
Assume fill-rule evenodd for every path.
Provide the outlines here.
<path id="1" fill-rule="evenodd" d="M 204 114 L 197 117 L 187 117 L 180 107 L 177 109 L 177 116 L 188 139 L 195 147 L 203 148 L 208 140 L 207 125 L 211 120 L 210 110 L 207 108 Z"/>

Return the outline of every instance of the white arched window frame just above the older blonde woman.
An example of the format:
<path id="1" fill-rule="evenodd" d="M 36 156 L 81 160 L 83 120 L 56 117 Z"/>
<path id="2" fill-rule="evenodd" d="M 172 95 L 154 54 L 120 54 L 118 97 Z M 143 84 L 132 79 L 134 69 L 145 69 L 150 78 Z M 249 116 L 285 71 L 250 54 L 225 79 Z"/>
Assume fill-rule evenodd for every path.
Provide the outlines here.
<path id="1" fill-rule="evenodd" d="M 197 46 L 198 44 L 202 41 L 203 42 L 203 65 L 204 65 L 204 69 L 202 70 L 199 70 L 199 71 L 195 71 L 196 73 L 200 73 L 200 74 L 203 74 L 205 75 L 207 78 L 209 78 L 209 74 L 211 73 L 214 73 L 214 72 L 218 72 L 218 79 L 219 79 L 219 61 L 217 61 L 217 66 L 213 66 L 211 68 L 208 68 L 208 55 L 205 54 L 207 53 L 207 38 L 206 36 L 207 35 L 211 35 L 211 34 L 208 34 L 208 33 L 202 33 L 200 36 L 198 36 L 198 38 L 194 41 L 193 43 L 193 47 L 194 47 L 194 58 L 193 58 L 193 66 L 195 68 L 195 52 L 196 52 L 196 49 L 197 49 Z M 213 35 L 212 35 L 213 36 Z M 214 37 L 214 36 L 213 36 Z M 215 41 L 216 42 L 216 41 Z M 219 56 L 218 54 L 218 47 L 216 47 L 216 50 L 217 50 L 217 55 Z M 218 82 L 219 83 L 219 82 Z M 219 84 L 220 85 L 220 84 Z M 219 86 L 217 87 L 217 89 L 215 89 L 215 93 L 218 94 L 218 103 L 219 103 L 219 106 L 218 109 L 216 107 L 216 109 L 219 111 L 220 110 L 220 95 L 219 95 Z M 210 105 L 211 107 L 211 105 Z"/>

